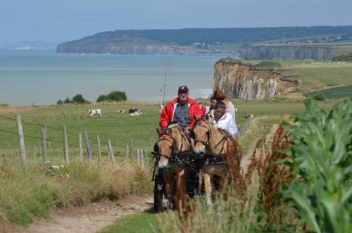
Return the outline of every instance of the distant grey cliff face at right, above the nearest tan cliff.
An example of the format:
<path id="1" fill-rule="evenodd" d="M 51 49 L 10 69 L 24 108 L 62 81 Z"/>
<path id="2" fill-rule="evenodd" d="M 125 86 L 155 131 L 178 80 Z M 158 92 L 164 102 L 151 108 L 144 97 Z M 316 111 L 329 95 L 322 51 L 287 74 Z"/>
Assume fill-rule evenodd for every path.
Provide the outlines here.
<path id="1" fill-rule="evenodd" d="M 327 60 L 332 58 L 332 49 L 309 45 L 245 45 L 239 54 L 241 58 Z"/>

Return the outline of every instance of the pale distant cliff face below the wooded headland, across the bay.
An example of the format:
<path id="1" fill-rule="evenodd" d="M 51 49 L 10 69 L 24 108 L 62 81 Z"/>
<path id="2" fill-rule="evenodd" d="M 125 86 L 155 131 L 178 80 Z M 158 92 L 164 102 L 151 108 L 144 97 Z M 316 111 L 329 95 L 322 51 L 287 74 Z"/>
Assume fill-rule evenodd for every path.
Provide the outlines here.
<path id="1" fill-rule="evenodd" d="M 56 49 L 57 53 L 111 53 L 111 54 L 195 54 L 201 50 L 182 46 L 168 46 L 163 44 L 77 44 L 63 43 Z"/>

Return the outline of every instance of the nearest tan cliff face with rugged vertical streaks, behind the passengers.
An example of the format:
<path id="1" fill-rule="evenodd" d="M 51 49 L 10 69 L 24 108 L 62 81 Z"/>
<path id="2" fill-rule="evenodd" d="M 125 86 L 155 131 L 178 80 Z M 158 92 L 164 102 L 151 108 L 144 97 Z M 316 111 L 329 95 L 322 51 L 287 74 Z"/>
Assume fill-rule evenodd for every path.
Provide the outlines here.
<path id="1" fill-rule="evenodd" d="M 222 89 L 227 98 L 262 100 L 294 91 L 298 86 L 298 81 L 284 80 L 272 69 L 218 61 L 214 70 L 213 91 Z"/>

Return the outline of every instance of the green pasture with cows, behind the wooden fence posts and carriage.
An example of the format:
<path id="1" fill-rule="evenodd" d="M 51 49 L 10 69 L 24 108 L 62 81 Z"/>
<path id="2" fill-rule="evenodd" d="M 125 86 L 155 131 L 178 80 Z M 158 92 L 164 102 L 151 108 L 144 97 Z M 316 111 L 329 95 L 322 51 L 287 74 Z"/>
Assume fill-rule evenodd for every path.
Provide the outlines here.
<path id="1" fill-rule="evenodd" d="M 287 103 L 285 101 L 243 101 L 232 100 L 234 106 L 239 109 L 237 124 L 243 125 L 246 119 L 244 115 L 253 114 L 255 117 L 263 115 L 291 115 L 303 112 L 303 102 L 294 101 Z M 324 101 L 320 105 L 322 108 L 329 109 L 334 101 Z M 143 115 L 131 117 L 127 113 L 117 113 L 119 109 L 141 108 Z M 20 152 L 18 149 L 18 136 L 13 109 L 11 113 L 6 112 L 6 108 L 2 108 L 0 113 L 0 150 L 4 154 L 4 158 L 15 158 L 13 161 L 20 163 Z M 101 118 L 94 116 L 93 118 L 87 112 L 89 108 L 101 108 Z M 32 110 L 31 110 L 32 109 Z M 20 108 L 21 110 L 21 108 Z M 111 139 L 115 156 L 119 159 L 125 156 L 125 142 L 132 144 L 135 149 L 146 148 L 149 152 L 157 139 L 156 127 L 158 127 L 158 106 L 146 105 L 143 103 L 116 103 L 116 104 L 100 104 L 87 106 L 51 106 L 37 107 L 25 109 L 20 112 L 23 120 L 23 132 L 25 134 L 25 146 L 28 160 L 34 163 L 35 160 L 41 160 L 41 126 L 46 124 L 48 127 L 47 142 L 48 158 L 51 161 L 61 161 L 63 163 L 63 125 L 68 130 L 68 144 L 71 158 L 78 157 L 78 133 L 87 130 L 89 141 L 92 147 L 92 156 L 97 158 L 96 134 L 101 139 L 101 147 L 103 151 L 103 160 L 107 159 L 107 139 Z M 30 110 L 30 111 L 28 111 Z M 1 118 L 2 116 L 2 118 Z M 4 118 L 6 117 L 6 118 Z M 30 124 L 31 123 L 31 124 Z M 32 123 L 36 125 L 32 125 Z M 13 132 L 11 134 L 9 132 Z M 83 139 L 84 141 L 84 139 Z M 34 146 L 37 147 L 37 157 L 34 158 Z M 84 149 L 84 158 L 87 158 L 87 151 Z"/>

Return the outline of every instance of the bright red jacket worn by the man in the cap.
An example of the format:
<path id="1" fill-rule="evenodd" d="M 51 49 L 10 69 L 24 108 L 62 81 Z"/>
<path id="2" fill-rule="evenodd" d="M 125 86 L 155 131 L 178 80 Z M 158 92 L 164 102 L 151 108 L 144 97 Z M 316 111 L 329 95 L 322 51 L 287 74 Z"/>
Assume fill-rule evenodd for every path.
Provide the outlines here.
<path id="1" fill-rule="evenodd" d="M 178 98 L 173 99 L 163 109 L 163 112 L 160 115 L 160 122 L 159 122 L 161 129 L 165 129 L 168 123 L 172 122 L 172 120 L 174 119 L 175 106 L 177 104 L 177 100 Z M 189 125 L 189 127 L 192 127 L 194 123 L 193 115 L 196 115 L 196 118 L 200 118 L 203 115 L 203 113 L 201 111 L 201 108 L 199 108 L 198 103 L 196 103 L 196 101 L 189 98 L 187 99 L 187 102 L 188 102 L 189 120 L 191 120 L 191 124 Z"/>

